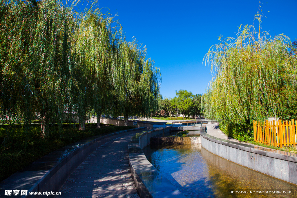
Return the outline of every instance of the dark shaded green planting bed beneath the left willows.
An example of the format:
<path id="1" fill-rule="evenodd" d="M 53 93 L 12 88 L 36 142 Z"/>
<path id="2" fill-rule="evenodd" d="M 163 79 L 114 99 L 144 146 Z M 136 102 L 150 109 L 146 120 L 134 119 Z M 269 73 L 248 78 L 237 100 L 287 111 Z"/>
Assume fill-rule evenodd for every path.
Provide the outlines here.
<path id="1" fill-rule="evenodd" d="M 57 126 L 50 126 L 50 135 L 45 139 L 40 138 L 40 125 L 32 127 L 32 140 L 27 141 L 25 149 L 25 132 L 22 126 L 16 127 L 13 141 L 7 146 L 0 146 L 0 181 L 6 179 L 13 173 L 23 169 L 32 162 L 47 155 L 59 148 L 71 143 L 100 134 L 109 134 L 119 130 L 132 129 L 132 126 L 106 126 L 101 124 L 100 129 L 96 129 L 96 123 L 86 124 L 85 131 L 79 131 L 78 126 L 63 127 L 60 131 Z M 0 127 L 0 141 L 3 142 L 6 129 Z"/>

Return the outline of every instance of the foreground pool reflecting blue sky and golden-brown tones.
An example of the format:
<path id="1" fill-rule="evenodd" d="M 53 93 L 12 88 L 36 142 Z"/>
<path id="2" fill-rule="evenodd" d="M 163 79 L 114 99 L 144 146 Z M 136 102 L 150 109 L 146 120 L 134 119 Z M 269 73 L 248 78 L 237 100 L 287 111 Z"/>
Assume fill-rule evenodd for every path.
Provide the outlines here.
<path id="1" fill-rule="evenodd" d="M 223 159 L 200 144 L 148 145 L 143 151 L 151 164 L 187 198 L 297 197 L 296 185 Z M 276 190 L 291 193 L 271 194 Z M 255 194 L 232 194 L 232 191 L 255 191 Z M 268 192 L 256 194 L 257 191 Z"/>

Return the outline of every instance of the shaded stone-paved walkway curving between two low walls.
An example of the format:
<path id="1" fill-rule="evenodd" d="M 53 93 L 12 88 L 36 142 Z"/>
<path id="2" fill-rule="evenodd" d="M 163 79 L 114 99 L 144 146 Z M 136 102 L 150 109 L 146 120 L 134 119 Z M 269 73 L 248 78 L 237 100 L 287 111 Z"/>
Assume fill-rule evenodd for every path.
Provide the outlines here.
<path id="1" fill-rule="evenodd" d="M 98 147 L 69 176 L 56 198 L 139 198 L 131 178 L 125 135 Z"/>

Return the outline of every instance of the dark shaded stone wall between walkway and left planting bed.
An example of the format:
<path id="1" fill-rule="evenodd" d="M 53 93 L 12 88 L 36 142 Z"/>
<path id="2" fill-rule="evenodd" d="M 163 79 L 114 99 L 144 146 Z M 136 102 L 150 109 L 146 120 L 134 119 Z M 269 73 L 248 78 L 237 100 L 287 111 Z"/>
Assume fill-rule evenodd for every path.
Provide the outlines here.
<path id="1" fill-rule="evenodd" d="M 5 190 L 28 190 L 27 196 L 13 196 L 22 198 L 42 196 L 29 195 L 32 191 L 59 191 L 71 172 L 100 145 L 117 137 L 143 130 L 147 130 L 147 127 L 89 137 L 60 148 L 3 180 L 0 183 L 0 197 L 7 197 L 4 196 Z"/>

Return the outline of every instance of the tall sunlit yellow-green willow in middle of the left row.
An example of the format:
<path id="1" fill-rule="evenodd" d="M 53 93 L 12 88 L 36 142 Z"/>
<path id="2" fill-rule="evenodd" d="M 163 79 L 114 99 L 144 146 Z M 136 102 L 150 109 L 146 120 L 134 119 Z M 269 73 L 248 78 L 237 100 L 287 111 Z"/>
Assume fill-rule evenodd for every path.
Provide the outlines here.
<path id="1" fill-rule="evenodd" d="M 113 104 L 111 67 L 116 66 L 112 64 L 112 53 L 117 32 L 112 23 L 113 17 L 109 14 L 89 9 L 75 33 L 80 90 L 84 90 L 78 96 L 80 130 L 85 129 L 86 115 L 92 112 L 96 113 L 97 128 L 100 128 L 102 111 L 110 113 L 108 107 Z"/>

